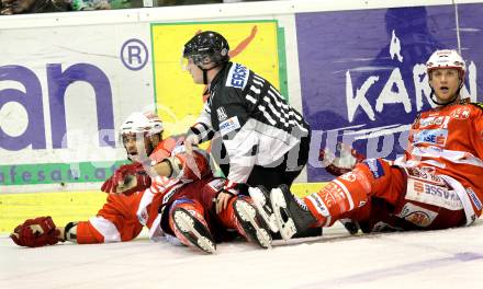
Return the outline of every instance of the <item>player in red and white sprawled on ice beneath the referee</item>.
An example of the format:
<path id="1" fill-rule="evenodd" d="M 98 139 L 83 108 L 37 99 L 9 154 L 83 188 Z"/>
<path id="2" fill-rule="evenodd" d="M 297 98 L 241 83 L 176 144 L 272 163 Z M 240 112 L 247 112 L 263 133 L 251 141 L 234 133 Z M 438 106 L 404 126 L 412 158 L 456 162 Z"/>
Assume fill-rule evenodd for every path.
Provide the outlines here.
<path id="1" fill-rule="evenodd" d="M 226 180 L 213 176 L 203 150 L 194 147 L 188 157 L 182 138 L 162 139 L 157 115 L 133 113 L 120 135 L 133 162 L 117 169 L 102 185 L 110 195 L 98 215 L 65 227 L 56 227 L 50 217 L 26 220 L 10 235 L 18 245 L 124 242 L 146 226 L 151 240 L 176 236 L 207 253 L 214 253 L 216 242 L 233 234 L 227 231 L 270 247 L 269 230 L 250 198 L 233 197 L 226 209 L 215 204 Z"/>

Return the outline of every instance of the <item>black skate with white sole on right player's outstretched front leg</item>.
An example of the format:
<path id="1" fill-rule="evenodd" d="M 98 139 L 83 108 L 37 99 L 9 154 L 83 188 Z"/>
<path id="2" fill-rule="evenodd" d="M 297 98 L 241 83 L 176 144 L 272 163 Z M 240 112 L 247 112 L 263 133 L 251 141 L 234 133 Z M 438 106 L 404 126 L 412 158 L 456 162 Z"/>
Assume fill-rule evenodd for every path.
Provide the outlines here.
<path id="1" fill-rule="evenodd" d="M 306 206 L 297 201 L 287 185 L 273 188 L 270 193 L 270 200 L 280 234 L 285 241 L 295 233 L 307 230 L 316 222 Z"/>

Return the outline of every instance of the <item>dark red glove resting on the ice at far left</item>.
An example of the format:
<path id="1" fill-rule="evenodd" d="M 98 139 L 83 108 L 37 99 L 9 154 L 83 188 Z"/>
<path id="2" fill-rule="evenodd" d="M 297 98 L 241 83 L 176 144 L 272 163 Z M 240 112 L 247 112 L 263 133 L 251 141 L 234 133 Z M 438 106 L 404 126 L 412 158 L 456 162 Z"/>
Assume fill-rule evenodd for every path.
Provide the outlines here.
<path id="1" fill-rule="evenodd" d="M 60 241 L 58 234 L 50 217 L 38 217 L 19 224 L 10 238 L 19 246 L 38 247 L 57 244 Z"/>

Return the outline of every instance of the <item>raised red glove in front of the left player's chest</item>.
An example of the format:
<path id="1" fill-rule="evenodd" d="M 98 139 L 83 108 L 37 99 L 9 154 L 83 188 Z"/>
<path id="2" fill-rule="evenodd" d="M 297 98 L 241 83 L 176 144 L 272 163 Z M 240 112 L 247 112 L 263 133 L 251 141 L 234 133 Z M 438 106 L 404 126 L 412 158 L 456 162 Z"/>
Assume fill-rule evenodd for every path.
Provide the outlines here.
<path id="1" fill-rule="evenodd" d="M 102 184 L 101 190 L 105 193 L 131 195 L 144 190 L 151 184 L 149 175 L 142 163 L 134 162 L 121 165 L 114 174 Z"/>

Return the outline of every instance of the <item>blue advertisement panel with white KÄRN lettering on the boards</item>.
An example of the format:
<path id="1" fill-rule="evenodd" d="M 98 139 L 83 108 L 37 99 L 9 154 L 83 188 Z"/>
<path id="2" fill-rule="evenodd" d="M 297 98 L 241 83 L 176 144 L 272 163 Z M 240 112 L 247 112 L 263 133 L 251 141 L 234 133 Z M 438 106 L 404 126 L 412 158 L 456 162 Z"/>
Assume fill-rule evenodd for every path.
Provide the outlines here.
<path id="1" fill-rule="evenodd" d="M 459 5 L 461 30 L 453 5 L 296 14 L 303 111 L 313 129 L 308 181 L 330 180 L 317 154 L 338 141 L 368 158 L 401 157 L 414 118 L 434 106 L 425 62 L 435 49 L 458 49 L 459 38 L 468 66 L 462 94 L 476 101 L 482 13 L 482 4 Z"/>

